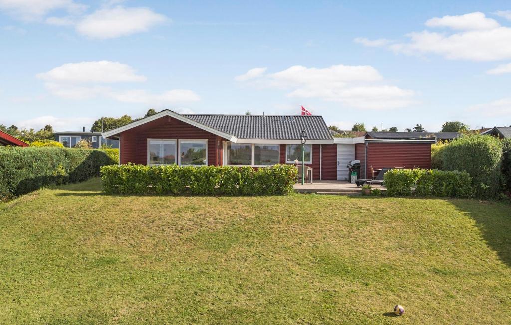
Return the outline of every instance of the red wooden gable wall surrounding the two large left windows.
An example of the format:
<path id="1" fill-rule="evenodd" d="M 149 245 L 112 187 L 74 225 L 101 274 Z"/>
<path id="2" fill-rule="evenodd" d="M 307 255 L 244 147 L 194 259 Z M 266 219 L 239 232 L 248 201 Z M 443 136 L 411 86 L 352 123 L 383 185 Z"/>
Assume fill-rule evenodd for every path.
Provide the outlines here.
<path id="1" fill-rule="evenodd" d="M 121 164 L 147 165 L 147 139 L 207 140 L 207 164 L 221 165 L 217 148 L 219 137 L 171 117 L 148 122 L 121 133 Z M 179 148 L 178 148 L 179 152 Z M 221 157 L 221 155 L 220 155 Z"/>

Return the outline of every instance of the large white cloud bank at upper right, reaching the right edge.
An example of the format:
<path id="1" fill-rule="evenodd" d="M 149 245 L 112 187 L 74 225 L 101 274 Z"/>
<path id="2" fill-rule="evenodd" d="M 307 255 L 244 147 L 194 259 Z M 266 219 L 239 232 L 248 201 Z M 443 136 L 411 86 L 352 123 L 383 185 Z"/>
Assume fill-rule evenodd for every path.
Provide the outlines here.
<path id="1" fill-rule="evenodd" d="M 448 27 L 455 32 L 407 34 L 407 42 L 384 45 L 406 55 L 436 54 L 450 60 L 498 61 L 511 59 L 511 28 L 500 26 L 480 12 L 433 18 L 428 27 Z M 378 40 L 377 40 L 378 41 Z M 376 42 L 376 41 L 369 41 Z M 370 43 L 368 43 L 370 44 Z"/>

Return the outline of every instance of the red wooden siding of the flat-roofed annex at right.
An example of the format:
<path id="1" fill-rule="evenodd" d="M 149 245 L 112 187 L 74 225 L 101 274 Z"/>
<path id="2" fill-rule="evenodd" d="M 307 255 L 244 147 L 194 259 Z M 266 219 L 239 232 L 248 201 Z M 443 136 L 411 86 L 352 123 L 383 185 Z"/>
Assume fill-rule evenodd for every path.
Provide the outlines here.
<path id="1" fill-rule="evenodd" d="M 358 146 L 358 145 L 357 145 Z M 358 159 L 358 158 L 357 158 Z M 367 145 L 367 174 L 369 166 L 431 168 L 431 144 L 420 143 L 369 143 Z M 364 165 L 362 165 L 362 168 Z"/>

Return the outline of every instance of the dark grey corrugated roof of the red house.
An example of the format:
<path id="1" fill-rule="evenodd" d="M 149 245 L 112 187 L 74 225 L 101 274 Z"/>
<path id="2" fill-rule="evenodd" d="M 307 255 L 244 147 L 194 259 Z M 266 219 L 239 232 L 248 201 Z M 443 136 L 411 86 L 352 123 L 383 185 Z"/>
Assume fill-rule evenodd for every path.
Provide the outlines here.
<path id="1" fill-rule="evenodd" d="M 243 139 L 299 140 L 305 130 L 310 140 L 332 140 L 327 124 L 317 115 L 181 115 Z"/>

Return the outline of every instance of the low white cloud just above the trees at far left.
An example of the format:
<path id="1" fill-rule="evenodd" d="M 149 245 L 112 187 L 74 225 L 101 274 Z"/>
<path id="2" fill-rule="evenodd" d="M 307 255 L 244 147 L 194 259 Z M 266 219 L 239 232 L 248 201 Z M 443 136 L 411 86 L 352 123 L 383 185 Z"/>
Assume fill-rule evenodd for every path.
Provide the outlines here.
<path id="1" fill-rule="evenodd" d="M 45 125 L 50 124 L 53 126 L 55 131 L 69 131 L 69 130 L 77 130 L 81 131 L 82 127 L 85 126 L 89 128 L 92 123 L 94 123 L 95 119 L 92 118 L 56 118 L 51 115 L 44 115 L 34 119 L 18 121 L 15 123 L 21 129 L 35 129 L 40 130 Z"/>

